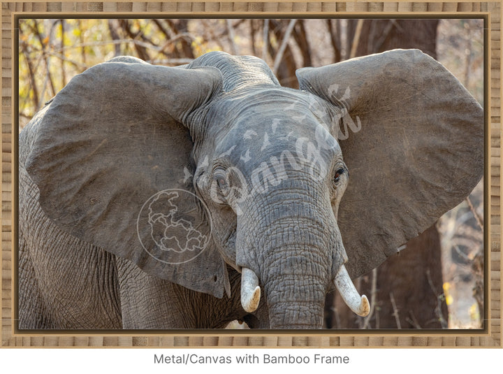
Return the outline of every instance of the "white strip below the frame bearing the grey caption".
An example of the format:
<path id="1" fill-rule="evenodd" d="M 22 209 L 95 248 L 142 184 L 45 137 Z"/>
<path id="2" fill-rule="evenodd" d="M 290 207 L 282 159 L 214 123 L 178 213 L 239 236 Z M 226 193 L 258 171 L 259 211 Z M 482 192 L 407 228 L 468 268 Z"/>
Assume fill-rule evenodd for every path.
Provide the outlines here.
<path id="1" fill-rule="evenodd" d="M 349 364 L 313 364 L 314 354 L 348 356 Z M 231 356 L 232 364 L 154 364 L 154 354 L 196 354 Z M 236 364 L 235 357 L 244 354 L 309 357 L 311 364 Z M 1 349 L 3 373 L 481 373 L 502 366 L 503 350 L 457 349 Z M 5 370 L 7 369 L 7 370 Z M 497 369 L 496 369 L 497 371 Z"/>

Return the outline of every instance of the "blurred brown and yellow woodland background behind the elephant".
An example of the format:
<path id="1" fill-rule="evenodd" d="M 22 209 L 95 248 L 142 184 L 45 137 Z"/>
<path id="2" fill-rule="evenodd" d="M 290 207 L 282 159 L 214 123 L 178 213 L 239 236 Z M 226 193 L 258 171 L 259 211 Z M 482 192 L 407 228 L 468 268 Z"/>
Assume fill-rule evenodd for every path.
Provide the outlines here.
<path id="1" fill-rule="evenodd" d="M 393 48 L 418 48 L 435 57 L 483 104 L 482 20 L 20 20 L 20 129 L 74 75 L 118 55 L 166 66 L 212 50 L 255 55 L 282 85 L 298 88 L 300 67 Z M 370 315 L 356 317 L 330 294 L 326 327 L 483 327 L 483 183 L 404 245 L 399 255 L 356 280 L 370 297 Z"/>

